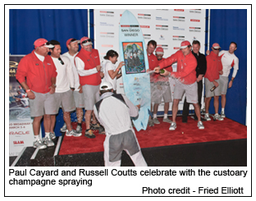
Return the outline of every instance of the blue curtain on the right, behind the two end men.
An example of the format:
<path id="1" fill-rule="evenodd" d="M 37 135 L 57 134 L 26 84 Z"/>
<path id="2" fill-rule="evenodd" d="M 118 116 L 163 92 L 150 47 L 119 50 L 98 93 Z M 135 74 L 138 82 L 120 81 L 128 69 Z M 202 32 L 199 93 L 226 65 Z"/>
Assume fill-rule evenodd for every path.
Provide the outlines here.
<path id="1" fill-rule="evenodd" d="M 231 89 L 226 94 L 226 117 L 245 125 L 247 101 L 247 11 L 242 9 L 211 9 L 210 47 L 219 43 L 222 50 L 228 50 L 230 43 L 237 43 L 235 56 L 239 58 L 239 70 Z M 249 47 L 251 45 L 249 44 Z M 231 80 L 233 69 L 229 76 Z M 214 113 L 213 103 L 210 111 Z M 219 112 L 221 112 L 221 99 Z"/>

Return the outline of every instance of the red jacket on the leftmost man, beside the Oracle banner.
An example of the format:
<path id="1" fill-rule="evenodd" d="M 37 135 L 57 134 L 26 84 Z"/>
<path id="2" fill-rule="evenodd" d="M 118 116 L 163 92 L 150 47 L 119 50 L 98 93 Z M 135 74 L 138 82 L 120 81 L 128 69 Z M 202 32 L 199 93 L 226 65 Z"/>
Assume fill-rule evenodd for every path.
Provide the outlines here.
<path id="1" fill-rule="evenodd" d="M 57 70 L 52 57 L 48 55 L 41 62 L 34 54 L 34 50 L 21 59 L 16 72 L 16 80 L 20 83 L 26 82 L 32 91 L 41 94 L 50 91 L 49 87 L 53 85 L 52 78 L 56 76 Z"/>

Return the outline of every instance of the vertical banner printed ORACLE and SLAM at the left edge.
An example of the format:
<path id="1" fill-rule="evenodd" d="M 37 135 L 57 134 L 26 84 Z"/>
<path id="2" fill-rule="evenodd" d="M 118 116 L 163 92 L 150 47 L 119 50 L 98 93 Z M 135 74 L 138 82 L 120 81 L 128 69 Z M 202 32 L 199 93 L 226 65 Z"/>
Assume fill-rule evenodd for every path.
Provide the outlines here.
<path id="1" fill-rule="evenodd" d="M 22 57 L 9 57 L 9 156 L 17 156 L 22 148 L 32 146 L 34 140 L 29 98 L 16 80 Z"/>

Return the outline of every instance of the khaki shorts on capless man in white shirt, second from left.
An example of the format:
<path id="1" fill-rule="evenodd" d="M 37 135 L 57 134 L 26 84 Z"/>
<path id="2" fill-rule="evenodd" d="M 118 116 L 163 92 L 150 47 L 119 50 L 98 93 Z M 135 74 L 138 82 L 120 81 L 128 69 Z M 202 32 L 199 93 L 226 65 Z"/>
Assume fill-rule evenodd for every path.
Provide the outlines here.
<path id="1" fill-rule="evenodd" d="M 57 112 L 60 106 L 62 106 L 63 112 L 72 112 L 75 110 L 75 100 L 71 89 L 62 93 L 55 93 L 55 99 Z"/>

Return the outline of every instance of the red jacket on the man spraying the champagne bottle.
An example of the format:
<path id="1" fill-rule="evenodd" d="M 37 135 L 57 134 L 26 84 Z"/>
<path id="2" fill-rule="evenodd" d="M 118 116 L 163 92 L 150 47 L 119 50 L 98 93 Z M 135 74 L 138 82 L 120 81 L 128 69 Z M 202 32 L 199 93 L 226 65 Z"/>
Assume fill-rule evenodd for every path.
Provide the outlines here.
<path id="1" fill-rule="evenodd" d="M 171 66 L 172 63 L 177 62 L 177 71 L 171 72 L 171 76 L 178 78 L 181 83 L 191 85 L 196 81 L 197 61 L 194 55 L 190 52 L 184 56 L 181 50 L 167 57 L 166 60 L 159 63 L 160 68 Z"/>

